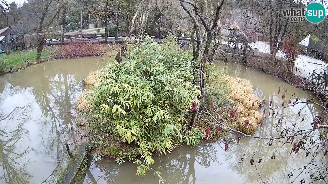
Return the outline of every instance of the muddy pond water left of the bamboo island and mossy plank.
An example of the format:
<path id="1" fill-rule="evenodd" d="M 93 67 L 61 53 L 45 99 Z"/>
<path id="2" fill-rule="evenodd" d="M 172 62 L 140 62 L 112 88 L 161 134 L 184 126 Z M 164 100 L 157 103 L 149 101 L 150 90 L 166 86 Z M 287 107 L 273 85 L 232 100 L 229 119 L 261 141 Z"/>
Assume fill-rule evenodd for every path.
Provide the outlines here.
<path id="1" fill-rule="evenodd" d="M 16 107 L 28 105 L 24 111 L 18 109 L 6 120 L 0 121 L 2 133 L 10 133 L 0 140 L 10 146 L 8 149 L 12 153 L 7 154 L 9 150 L 4 149 L 7 155 L 1 155 L 3 163 L 0 170 L 7 171 L 8 164 L 5 163 L 16 164 L 13 166 L 16 170 L 4 173 L 0 183 L 38 184 L 50 175 L 65 151 L 65 142 L 74 142 L 75 135 L 79 134 L 74 124 L 77 115 L 74 108 L 76 98 L 82 92 L 80 81 L 107 62 L 103 58 L 55 60 L 0 78 L 2 116 L 7 116 Z M 13 130 L 20 133 L 14 134 Z M 7 143 L 10 137 L 11 143 Z M 74 152 L 78 149 L 78 142 L 71 146 Z M 22 176 L 13 181 L 10 177 L 15 174 Z"/>

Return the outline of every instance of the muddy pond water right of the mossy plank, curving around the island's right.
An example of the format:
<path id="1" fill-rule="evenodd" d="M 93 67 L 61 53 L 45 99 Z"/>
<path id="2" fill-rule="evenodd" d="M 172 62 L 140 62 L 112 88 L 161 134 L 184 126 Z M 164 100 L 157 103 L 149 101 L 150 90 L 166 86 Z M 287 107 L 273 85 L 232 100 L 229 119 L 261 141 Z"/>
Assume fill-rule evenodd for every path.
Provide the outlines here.
<path id="1" fill-rule="evenodd" d="M 273 107 L 281 106 L 281 93 L 278 94 L 278 87 L 282 83 L 288 91 L 295 92 L 295 95 L 306 101 L 311 94 L 303 92 L 287 83 L 275 79 L 267 74 L 247 68 L 235 63 L 216 63 L 224 68 L 229 75 L 234 77 L 246 78 L 253 83 L 254 92 L 259 99 L 269 101 L 273 99 Z M 289 100 L 291 96 L 286 94 L 286 99 Z M 312 98 L 312 97 L 311 97 Z M 262 109 L 259 109 L 262 110 Z M 295 107 L 288 107 L 279 112 L 275 116 L 278 117 L 284 114 L 284 123 L 278 126 L 278 131 L 286 126 L 291 126 L 293 122 L 301 121 L 304 115 L 303 125 L 308 126 L 312 122 L 312 117 L 320 112 L 320 107 L 317 105 L 295 105 Z M 302 116 L 298 116 L 300 111 Z M 256 132 L 257 136 L 273 136 L 276 129 L 268 123 L 274 123 L 276 120 L 266 114 L 266 121 L 263 126 L 260 126 Z M 234 137 L 236 137 L 233 134 Z M 180 146 L 176 148 L 171 155 L 160 156 L 155 160 L 155 165 L 152 167 L 156 170 L 161 166 L 162 177 L 165 183 L 181 183 L 181 184 L 207 184 L 207 183 L 245 183 L 245 184 L 281 184 L 292 182 L 288 178 L 288 173 L 293 169 L 303 167 L 308 163 L 310 156 L 306 157 L 305 152 L 300 152 L 297 155 L 294 153 L 290 155 L 292 144 L 284 144 L 283 142 L 275 142 L 271 147 L 268 146 L 267 140 L 258 140 L 252 138 L 242 138 L 239 144 L 229 146 L 228 151 L 224 151 L 224 144 L 206 143 L 198 145 L 195 148 L 188 146 Z M 279 149 L 276 149 L 279 148 Z M 253 155 L 247 157 L 249 153 L 254 153 L 255 166 L 251 166 L 250 159 Z M 244 155 L 244 160 L 241 161 L 241 156 Z M 271 159 L 275 156 L 275 159 Z M 258 159 L 262 159 L 257 163 Z M 139 177 L 135 175 L 136 169 L 133 163 L 123 163 L 117 165 L 113 160 L 102 159 L 92 161 L 89 183 L 93 184 L 107 184 L 107 183 L 158 183 L 157 178 L 154 179 L 154 174 L 150 171 L 148 175 Z M 297 175 L 298 171 L 294 174 Z M 259 177 L 259 175 L 261 177 Z M 308 175 L 304 176 L 305 180 L 310 183 Z M 295 181 L 300 183 L 303 176 Z"/>

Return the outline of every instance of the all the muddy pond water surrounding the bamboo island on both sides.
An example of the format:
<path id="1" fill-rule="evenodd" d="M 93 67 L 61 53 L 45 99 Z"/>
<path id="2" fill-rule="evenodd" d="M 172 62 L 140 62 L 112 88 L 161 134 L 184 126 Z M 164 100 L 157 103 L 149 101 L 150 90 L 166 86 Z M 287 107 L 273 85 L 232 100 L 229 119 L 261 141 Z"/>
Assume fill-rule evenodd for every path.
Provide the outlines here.
<path id="1" fill-rule="evenodd" d="M 74 124 L 77 116 L 74 108 L 76 98 L 83 90 L 80 81 L 89 72 L 104 67 L 110 60 L 54 60 L 0 77 L 0 184 L 9 181 L 39 184 L 50 175 L 56 161 L 65 151 L 65 142 L 74 142 L 78 136 Z M 289 91 L 295 92 L 299 99 L 310 98 L 309 92 L 303 92 L 253 68 L 235 63 L 216 64 L 231 76 L 250 80 L 256 95 L 266 101 L 272 98 L 274 106 L 281 106 L 281 93 L 277 94 L 281 83 Z M 286 95 L 286 99 L 289 98 Z M 298 106 L 284 109 L 284 124 L 302 119 L 302 116 L 297 115 L 298 111 Z M 312 105 L 301 110 L 305 116 L 305 126 L 310 124 L 309 118 L 318 111 L 320 108 Z M 273 120 L 272 117 L 267 118 Z M 256 135 L 274 134 L 274 130 L 266 126 L 266 123 Z M 239 144 L 230 145 L 228 151 L 224 151 L 224 141 L 203 142 L 195 148 L 182 145 L 170 155 L 156 157 L 153 168 L 162 166 L 165 183 L 253 184 L 262 183 L 262 178 L 265 183 L 280 184 L 289 183 L 287 174 L 293 168 L 303 166 L 307 158 L 303 156 L 305 153 L 290 155 L 292 145 L 284 145 L 276 152 L 266 146 L 254 156 L 255 160 L 262 158 L 262 162 L 256 164 L 255 168 L 250 165 L 250 158 L 240 161 L 240 157 L 260 149 L 267 141 L 242 138 Z M 278 144 L 274 147 L 278 147 Z M 78 144 L 72 149 L 78 149 Z M 271 159 L 273 155 L 276 159 Z M 135 164 L 128 162 L 117 165 L 112 159 L 92 161 L 85 183 L 158 183 L 151 171 L 146 176 L 136 176 L 135 167 Z"/>

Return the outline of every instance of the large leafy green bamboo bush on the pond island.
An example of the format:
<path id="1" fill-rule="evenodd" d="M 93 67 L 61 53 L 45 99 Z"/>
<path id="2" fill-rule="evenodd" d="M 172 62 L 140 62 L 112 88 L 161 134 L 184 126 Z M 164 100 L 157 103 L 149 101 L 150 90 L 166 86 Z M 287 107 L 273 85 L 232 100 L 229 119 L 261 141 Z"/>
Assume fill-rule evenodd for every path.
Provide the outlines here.
<path id="1" fill-rule="evenodd" d="M 163 45 L 148 36 L 137 42 L 125 61 L 100 71 L 88 98 L 108 135 L 136 146 L 118 153 L 115 162 L 133 161 L 137 175 L 145 175 L 154 164 L 154 154 L 170 153 L 182 143 L 195 146 L 203 133 L 188 128 L 184 118 L 200 93 L 192 83 L 192 54 L 170 51 L 179 50 L 172 38 Z"/>

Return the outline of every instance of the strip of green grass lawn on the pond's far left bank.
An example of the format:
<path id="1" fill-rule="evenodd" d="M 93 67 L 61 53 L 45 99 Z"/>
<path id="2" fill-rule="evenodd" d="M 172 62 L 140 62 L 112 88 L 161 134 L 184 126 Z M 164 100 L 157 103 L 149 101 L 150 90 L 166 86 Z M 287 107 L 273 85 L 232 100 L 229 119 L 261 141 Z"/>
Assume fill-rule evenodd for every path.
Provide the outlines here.
<path id="1" fill-rule="evenodd" d="M 43 49 L 41 58 L 50 58 L 52 51 L 49 49 Z M 36 49 L 21 50 L 12 52 L 9 55 L 0 54 L 0 73 L 7 72 L 9 68 L 19 69 L 26 65 L 26 61 L 29 60 L 32 63 L 36 58 Z"/>

